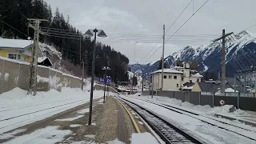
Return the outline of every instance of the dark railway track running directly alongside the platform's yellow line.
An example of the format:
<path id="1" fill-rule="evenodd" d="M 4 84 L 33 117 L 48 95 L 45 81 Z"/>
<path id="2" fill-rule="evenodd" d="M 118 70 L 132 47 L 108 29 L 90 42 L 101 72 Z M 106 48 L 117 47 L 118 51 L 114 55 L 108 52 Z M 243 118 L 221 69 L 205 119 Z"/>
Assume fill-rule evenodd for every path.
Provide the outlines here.
<path id="1" fill-rule="evenodd" d="M 196 138 L 194 135 L 191 136 L 187 130 L 182 129 L 181 126 L 177 126 L 172 122 L 167 122 L 165 119 L 161 118 L 158 114 L 150 110 L 146 110 L 142 106 L 134 102 L 130 102 L 124 98 L 118 97 L 122 102 L 125 102 L 132 110 L 142 117 L 146 123 L 162 138 L 162 140 L 168 144 L 175 143 L 187 143 L 187 144 L 202 144 L 203 142 L 200 138 Z"/>

